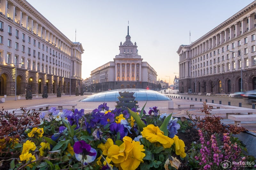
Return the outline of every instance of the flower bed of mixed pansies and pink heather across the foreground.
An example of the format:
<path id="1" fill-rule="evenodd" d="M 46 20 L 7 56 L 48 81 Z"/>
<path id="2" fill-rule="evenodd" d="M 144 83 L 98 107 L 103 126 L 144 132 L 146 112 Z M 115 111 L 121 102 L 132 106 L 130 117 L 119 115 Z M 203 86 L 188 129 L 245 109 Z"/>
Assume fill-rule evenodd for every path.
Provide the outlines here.
<path id="1" fill-rule="evenodd" d="M 207 116 L 193 120 L 188 114 L 192 123 L 178 121 L 171 114 L 159 115 L 157 107 L 146 114 L 144 107 L 121 112 L 103 103 L 88 114 L 52 107 L 50 115 L 21 108 L 20 118 L 2 110 L 1 168 L 219 169 L 225 160 L 249 160 L 231 137 L 244 129 L 223 129 L 219 118 Z M 195 126 L 200 140 L 185 146 L 178 136 Z"/>

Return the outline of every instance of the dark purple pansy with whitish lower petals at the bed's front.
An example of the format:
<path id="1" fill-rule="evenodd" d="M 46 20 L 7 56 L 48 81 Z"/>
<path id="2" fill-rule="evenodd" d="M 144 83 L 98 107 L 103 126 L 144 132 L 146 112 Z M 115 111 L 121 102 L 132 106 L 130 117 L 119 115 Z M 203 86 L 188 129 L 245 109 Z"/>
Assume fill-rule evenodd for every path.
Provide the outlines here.
<path id="1" fill-rule="evenodd" d="M 75 142 L 73 149 L 76 159 L 84 163 L 84 165 L 94 161 L 97 156 L 97 151 L 83 140 Z"/>

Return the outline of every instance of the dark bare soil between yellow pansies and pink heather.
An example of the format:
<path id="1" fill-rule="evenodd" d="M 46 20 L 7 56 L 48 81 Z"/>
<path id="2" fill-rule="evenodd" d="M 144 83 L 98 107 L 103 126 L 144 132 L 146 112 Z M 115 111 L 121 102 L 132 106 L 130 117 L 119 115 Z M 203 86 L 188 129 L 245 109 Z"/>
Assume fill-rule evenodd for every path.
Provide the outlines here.
<path id="1" fill-rule="evenodd" d="M 185 133 L 178 132 L 177 136 L 179 137 L 179 139 L 183 140 L 185 143 L 185 153 L 188 153 L 188 150 L 191 148 L 191 144 L 193 142 L 198 143 L 198 141 L 200 139 L 198 136 L 197 130 L 194 128 L 186 130 Z M 177 159 L 180 159 L 180 157 L 178 156 Z M 186 165 L 186 160 L 180 159 L 180 163 L 181 164 L 180 164 L 179 170 L 190 169 L 190 167 L 188 165 Z"/>

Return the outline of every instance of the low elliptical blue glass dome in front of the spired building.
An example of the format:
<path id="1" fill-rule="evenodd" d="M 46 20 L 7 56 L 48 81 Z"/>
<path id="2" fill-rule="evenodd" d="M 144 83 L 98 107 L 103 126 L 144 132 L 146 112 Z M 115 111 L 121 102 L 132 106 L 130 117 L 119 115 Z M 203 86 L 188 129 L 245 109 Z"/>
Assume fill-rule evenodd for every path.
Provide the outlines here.
<path id="1" fill-rule="evenodd" d="M 110 90 L 105 92 L 99 92 L 88 96 L 80 101 L 119 101 L 118 92 L 135 92 L 133 96 L 137 101 L 148 101 L 148 100 L 172 100 L 169 97 L 153 91 L 153 90 L 146 90 L 146 89 L 117 89 L 117 90 Z"/>

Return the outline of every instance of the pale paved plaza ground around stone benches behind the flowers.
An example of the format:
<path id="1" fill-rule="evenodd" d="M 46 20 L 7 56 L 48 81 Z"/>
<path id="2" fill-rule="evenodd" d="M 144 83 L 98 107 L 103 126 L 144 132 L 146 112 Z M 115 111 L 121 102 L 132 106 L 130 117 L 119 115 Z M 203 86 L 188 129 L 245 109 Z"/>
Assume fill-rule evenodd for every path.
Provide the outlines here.
<path id="1" fill-rule="evenodd" d="M 84 96 L 75 96 L 75 95 L 62 95 L 60 98 L 56 97 L 55 95 L 49 95 L 47 99 L 43 99 L 42 96 L 38 96 L 38 98 L 33 97 L 32 100 L 26 100 L 25 96 L 21 97 L 21 100 L 16 100 L 15 101 L 15 96 L 7 96 L 5 98 L 5 103 L 0 103 L 0 107 L 3 107 L 4 110 L 11 110 L 11 109 L 19 109 L 20 107 L 31 107 L 31 106 L 36 106 L 36 105 L 41 105 L 41 104 L 57 104 L 57 103 L 62 103 L 62 104 L 77 104 L 76 108 L 77 109 L 84 109 L 84 113 L 89 113 L 92 112 L 95 108 L 98 108 L 100 104 L 103 104 L 103 102 L 80 102 L 79 100 L 84 99 L 88 95 Z M 0 96 L 2 98 L 2 96 Z M 17 98 L 18 99 L 18 98 Z M 175 102 L 189 102 L 189 100 L 182 100 L 182 99 L 174 99 Z M 142 107 L 145 105 L 146 101 L 138 101 L 139 109 L 142 109 Z M 115 102 L 107 102 L 107 106 L 110 107 L 110 109 L 115 108 L 116 103 Z M 193 117 L 195 115 L 200 116 L 201 118 L 205 116 L 204 113 L 201 112 L 200 108 L 201 107 L 195 107 L 195 108 L 189 108 L 188 107 L 181 107 L 178 108 L 177 105 L 174 104 L 173 109 L 168 109 L 168 100 L 162 100 L 162 101 L 147 101 L 146 106 L 145 106 L 145 111 L 149 111 L 149 107 L 157 107 L 157 109 L 160 110 L 160 114 L 163 113 L 172 113 L 173 116 L 185 116 L 186 112 L 188 111 L 190 114 L 193 114 Z M 226 119 L 225 114 L 215 114 L 215 116 L 221 116 L 224 119 L 222 122 L 224 124 L 234 124 L 234 121 Z M 242 122 L 242 126 L 253 133 L 256 133 L 256 122 Z"/>

